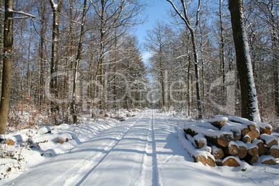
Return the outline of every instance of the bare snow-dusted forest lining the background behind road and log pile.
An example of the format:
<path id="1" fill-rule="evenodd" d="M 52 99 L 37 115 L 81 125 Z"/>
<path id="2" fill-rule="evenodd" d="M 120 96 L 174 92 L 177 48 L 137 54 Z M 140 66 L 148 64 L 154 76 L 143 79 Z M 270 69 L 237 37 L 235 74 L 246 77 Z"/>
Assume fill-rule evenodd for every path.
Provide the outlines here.
<path id="1" fill-rule="evenodd" d="M 140 44 L 134 33 L 148 22 L 149 1 L 1 0 L 1 109 L 9 105 L 0 110 L 0 134 L 116 110 L 243 116 L 229 1 L 165 1 L 171 24 L 158 20 Z M 278 131 L 279 2 L 243 3 L 259 115 Z"/>

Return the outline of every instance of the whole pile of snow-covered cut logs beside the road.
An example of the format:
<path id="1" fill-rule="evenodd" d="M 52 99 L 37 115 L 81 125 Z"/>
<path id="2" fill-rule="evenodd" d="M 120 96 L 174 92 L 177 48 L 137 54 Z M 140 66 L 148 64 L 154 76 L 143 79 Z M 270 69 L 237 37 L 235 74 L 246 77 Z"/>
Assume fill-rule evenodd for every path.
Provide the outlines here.
<path id="1" fill-rule="evenodd" d="M 184 130 L 184 132 L 183 132 Z M 248 164 L 276 164 L 278 137 L 269 124 L 256 124 L 241 117 L 217 116 L 185 124 L 178 139 L 194 162 L 210 166 L 239 167 Z"/>

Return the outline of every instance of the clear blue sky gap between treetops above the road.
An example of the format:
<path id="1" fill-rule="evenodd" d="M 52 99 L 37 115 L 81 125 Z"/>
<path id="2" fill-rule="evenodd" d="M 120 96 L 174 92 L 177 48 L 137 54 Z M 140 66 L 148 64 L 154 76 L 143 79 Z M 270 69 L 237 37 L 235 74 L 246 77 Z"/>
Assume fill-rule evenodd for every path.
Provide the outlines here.
<path id="1" fill-rule="evenodd" d="M 147 0 L 146 2 L 151 4 L 151 6 L 147 7 L 145 11 L 145 15 L 148 16 L 148 20 L 143 25 L 137 26 L 137 31 L 135 31 L 135 35 L 137 36 L 140 44 L 143 44 L 146 31 L 153 28 L 157 19 L 168 22 L 167 19 L 169 15 L 167 14 L 167 10 L 171 8 L 171 4 L 166 0 Z M 151 53 L 142 50 L 142 56 L 144 58 L 144 62 L 146 62 L 146 60 L 148 60 L 151 56 Z"/>

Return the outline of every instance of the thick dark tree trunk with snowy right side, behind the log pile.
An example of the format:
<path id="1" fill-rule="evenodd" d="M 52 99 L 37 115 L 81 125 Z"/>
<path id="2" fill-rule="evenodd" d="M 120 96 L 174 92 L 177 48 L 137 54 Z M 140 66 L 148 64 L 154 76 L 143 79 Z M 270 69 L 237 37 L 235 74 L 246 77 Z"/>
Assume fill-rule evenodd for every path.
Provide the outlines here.
<path id="1" fill-rule="evenodd" d="M 228 2 L 242 96 L 242 117 L 251 121 L 260 122 L 257 93 L 244 23 L 243 0 L 228 0 Z"/>

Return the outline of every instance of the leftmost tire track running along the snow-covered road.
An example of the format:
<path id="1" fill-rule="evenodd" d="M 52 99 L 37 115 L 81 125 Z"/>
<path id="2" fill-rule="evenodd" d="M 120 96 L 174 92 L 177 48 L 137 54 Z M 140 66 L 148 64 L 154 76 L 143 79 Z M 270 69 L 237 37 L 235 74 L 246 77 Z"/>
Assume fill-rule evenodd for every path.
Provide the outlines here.
<path id="1" fill-rule="evenodd" d="M 144 115 L 145 115 L 145 113 L 144 113 Z M 93 160 L 91 160 L 90 162 L 93 162 L 93 163 L 96 162 L 96 164 L 94 165 L 94 167 L 92 169 L 87 171 L 87 174 L 85 174 L 85 176 L 83 176 L 83 178 L 81 178 L 81 180 L 76 185 L 81 185 L 86 180 L 86 178 L 88 176 L 90 176 L 90 174 L 92 174 L 92 172 L 96 169 L 96 167 L 98 167 L 99 164 L 101 164 L 101 162 L 103 162 L 103 160 L 105 160 L 105 158 L 110 154 L 110 152 L 113 149 L 115 149 L 117 144 L 119 144 L 119 142 L 121 142 L 121 140 L 124 139 L 124 137 L 128 134 L 128 132 L 140 122 L 140 120 L 142 119 L 142 117 L 144 117 L 144 115 L 142 115 L 139 119 L 137 119 L 135 122 L 133 122 L 133 124 L 128 126 L 128 128 L 123 130 L 121 132 L 121 135 L 118 135 L 116 137 L 116 140 L 110 140 L 110 142 L 108 143 L 108 146 L 104 147 L 104 151 L 97 153 L 97 155 L 94 155 L 96 158 L 93 158 Z M 102 155 L 103 153 L 105 153 L 105 154 Z M 99 160 L 96 160 L 97 158 Z M 87 164 L 87 162 L 85 162 L 85 163 Z M 87 164 L 87 168 L 86 169 L 88 169 L 90 167 L 92 167 L 92 164 Z M 69 185 L 73 185 L 73 180 L 77 180 L 80 177 L 80 175 L 81 174 L 74 174 L 74 178 L 72 176 L 67 176 L 67 178 L 71 178 L 71 179 L 66 179 L 65 180 L 65 185 L 68 185 L 67 183 L 69 183 Z M 76 177 L 78 177 L 78 178 L 76 178 Z"/>

